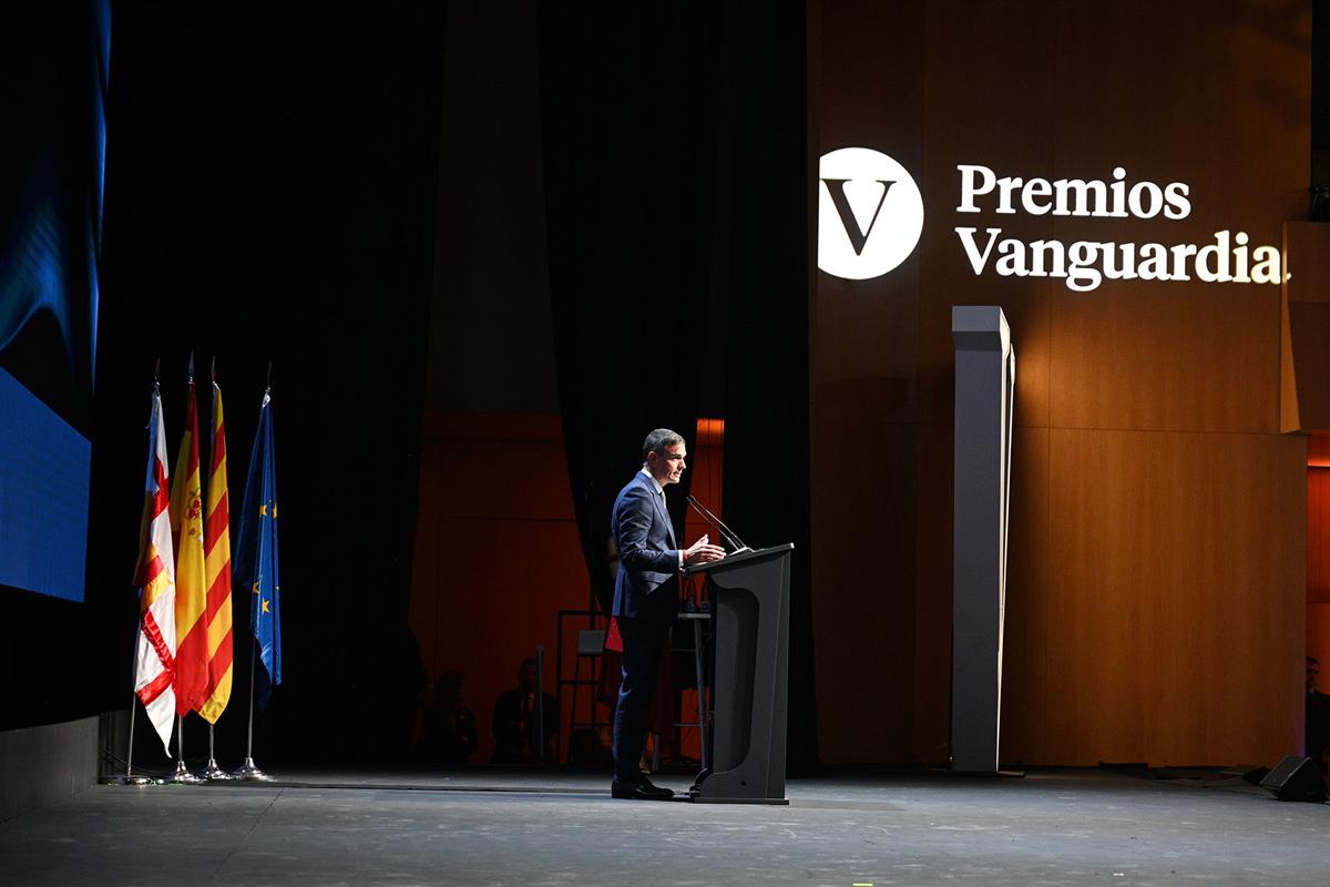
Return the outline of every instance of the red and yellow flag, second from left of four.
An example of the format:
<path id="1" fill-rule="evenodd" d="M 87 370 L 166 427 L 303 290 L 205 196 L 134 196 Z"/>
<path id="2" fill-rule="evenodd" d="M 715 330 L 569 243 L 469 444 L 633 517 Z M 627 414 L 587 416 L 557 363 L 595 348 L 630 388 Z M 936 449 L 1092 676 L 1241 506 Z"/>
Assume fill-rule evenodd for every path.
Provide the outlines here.
<path id="1" fill-rule="evenodd" d="M 198 404 L 189 379 L 185 435 L 170 491 L 176 545 L 176 714 L 203 707 L 207 685 L 207 624 L 203 621 L 203 503 L 198 471 Z"/>

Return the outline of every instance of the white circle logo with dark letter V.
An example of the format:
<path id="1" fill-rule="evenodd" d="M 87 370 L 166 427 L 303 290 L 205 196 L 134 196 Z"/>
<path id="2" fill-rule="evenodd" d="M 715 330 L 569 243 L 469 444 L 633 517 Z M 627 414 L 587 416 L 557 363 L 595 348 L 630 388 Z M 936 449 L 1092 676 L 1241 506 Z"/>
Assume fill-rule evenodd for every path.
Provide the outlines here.
<path id="1" fill-rule="evenodd" d="M 842 148 L 822 156 L 818 178 L 819 269 L 866 281 L 914 253 L 923 197 L 904 166 L 868 148 Z"/>

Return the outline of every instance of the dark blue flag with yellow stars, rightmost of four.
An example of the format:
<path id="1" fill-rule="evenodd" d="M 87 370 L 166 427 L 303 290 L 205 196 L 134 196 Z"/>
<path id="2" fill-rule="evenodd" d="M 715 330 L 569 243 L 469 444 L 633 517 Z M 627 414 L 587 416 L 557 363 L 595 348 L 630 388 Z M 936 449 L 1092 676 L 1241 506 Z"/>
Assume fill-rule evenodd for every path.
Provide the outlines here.
<path id="1" fill-rule="evenodd" d="M 245 504 L 241 509 L 234 580 L 250 590 L 250 626 L 258 644 L 254 701 L 267 705 L 269 690 L 282 682 L 282 616 L 277 574 L 277 453 L 273 443 L 273 406 L 267 392 L 259 407 L 254 451 L 250 453 Z"/>

